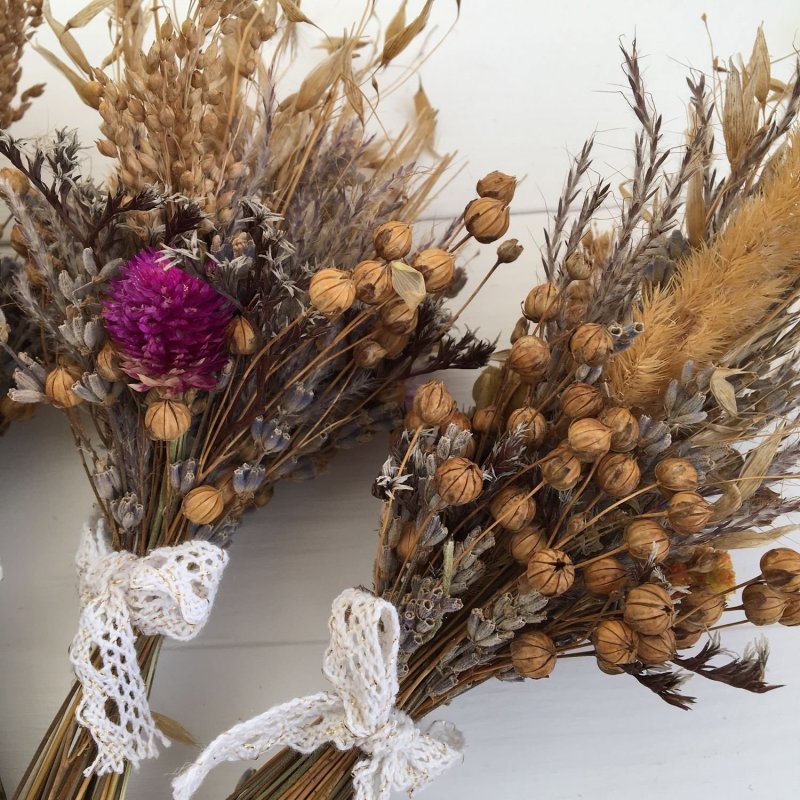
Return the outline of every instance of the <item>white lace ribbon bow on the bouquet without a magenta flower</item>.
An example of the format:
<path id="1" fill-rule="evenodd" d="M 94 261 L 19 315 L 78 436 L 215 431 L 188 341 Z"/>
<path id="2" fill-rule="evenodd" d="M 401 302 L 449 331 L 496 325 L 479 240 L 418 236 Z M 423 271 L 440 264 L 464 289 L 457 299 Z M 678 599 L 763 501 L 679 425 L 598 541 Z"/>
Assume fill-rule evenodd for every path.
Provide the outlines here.
<path id="1" fill-rule="evenodd" d="M 461 735 L 434 723 L 423 732 L 395 707 L 400 625 L 391 603 L 358 589 L 336 598 L 323 673 L 328 692 L 275 706 L 220 734 L 172 782 L 174 800 L 188 800 L 223 761 L 258 758 L 274 745 L 310 753 L 332 743 L 369 757 L 353 769 L 356 800 L 388 800 L 392 789 L 425 786 L 461 758 Z"/>

